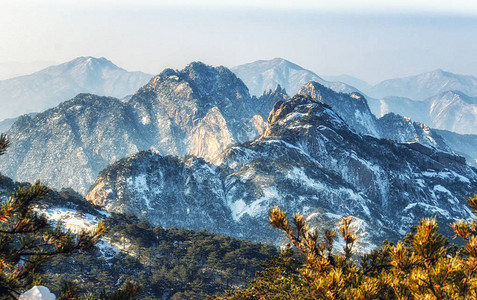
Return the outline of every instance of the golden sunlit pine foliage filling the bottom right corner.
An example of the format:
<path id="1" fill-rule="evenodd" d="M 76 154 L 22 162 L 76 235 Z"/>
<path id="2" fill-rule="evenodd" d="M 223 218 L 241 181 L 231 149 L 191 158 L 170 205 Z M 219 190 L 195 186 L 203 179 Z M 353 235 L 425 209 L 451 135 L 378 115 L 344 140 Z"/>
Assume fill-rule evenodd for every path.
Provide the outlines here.
<path id="1" fill-rule="evenodd" d="M 477 213 L 477 195 L 467 200 Z M 383 246 L 361 259 L 353 257 L 352 218 L 343 218 L 341 254 L 333 252 L 334 231 L 320 236 L 300 214 L 287 219 L 279 208 L 270 223 L 294 246 L 271 260 L 245 290 L 220 299 L 477 299 L 477 221 L 451 225 L 463 246 L 438 233 L 435 219 L 423 219 L 396 245 Z M 303 263 L 294 251 L 301 254 Z"/>

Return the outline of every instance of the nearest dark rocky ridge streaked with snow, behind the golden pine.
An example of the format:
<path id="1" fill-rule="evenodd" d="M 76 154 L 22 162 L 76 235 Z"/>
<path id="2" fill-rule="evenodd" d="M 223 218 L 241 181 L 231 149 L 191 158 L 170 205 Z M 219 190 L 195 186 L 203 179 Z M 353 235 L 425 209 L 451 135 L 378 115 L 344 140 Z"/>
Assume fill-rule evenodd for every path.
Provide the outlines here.
<path id="1" fill-rule="evenodd" d="M 274 242 L 274 205 L 318 225 L 351 214 L 367 247 L 422 216 L 470 217 L 465 198 L 476 189 L 477 170 L 461 157 L 357 134 L 328 105 L 295 96 L 275 104 L 261 138 L 227 149 L 215 166 L 141 153 L 102 172 L 87 199 L 153 224 Z"/>

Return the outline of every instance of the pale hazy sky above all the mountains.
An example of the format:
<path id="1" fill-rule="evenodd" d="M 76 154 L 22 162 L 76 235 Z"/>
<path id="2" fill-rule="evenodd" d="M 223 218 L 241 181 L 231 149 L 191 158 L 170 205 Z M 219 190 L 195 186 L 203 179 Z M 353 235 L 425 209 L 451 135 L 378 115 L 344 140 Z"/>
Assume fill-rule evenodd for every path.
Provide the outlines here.
<path id="1" fill-rule="evenodd" d="M 0 65 L 104 56 L 159 73 L 283 57 L 375 83 L 437 68 L 477 76 L 477 1 L 0 0 Z"/>

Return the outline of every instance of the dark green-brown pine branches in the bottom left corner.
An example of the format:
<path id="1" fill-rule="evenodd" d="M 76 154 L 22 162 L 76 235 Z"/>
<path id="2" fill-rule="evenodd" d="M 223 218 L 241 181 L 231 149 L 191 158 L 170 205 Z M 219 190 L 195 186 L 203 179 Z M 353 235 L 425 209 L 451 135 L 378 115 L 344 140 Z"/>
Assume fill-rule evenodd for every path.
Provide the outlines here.
<path id="1" fill-rule="evenodd" d="M 7 147 L 6 136 L 0 135 L 0 155 Z M 57 255 L 93 249 L 105 231 L 101 222 L 95 230 L 79 234 L 59 226 L 52 228 L 33 210 L 47 194 L 48 189 L 36 182 L 17 187 L 0 206 L 0 298 L 16 299 L 26 288 L 40 284 L 44 262 Z"/>

